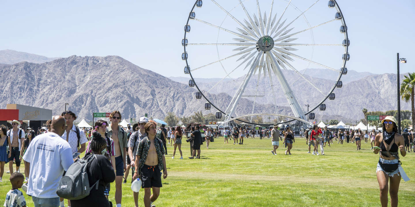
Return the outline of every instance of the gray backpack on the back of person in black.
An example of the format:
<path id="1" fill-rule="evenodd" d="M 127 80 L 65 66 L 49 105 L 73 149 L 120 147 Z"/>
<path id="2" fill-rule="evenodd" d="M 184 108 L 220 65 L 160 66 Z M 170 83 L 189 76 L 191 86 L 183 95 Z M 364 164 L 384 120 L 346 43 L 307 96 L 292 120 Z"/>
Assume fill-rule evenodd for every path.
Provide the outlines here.
<path id="1" fill-rule="evenodd" d="M 90 190 L 94 187 L 98 190 L 99 180 L 92 186 L 89 186 L 88 180 L 88 163 L 96 159 L 96 155 L 93 154 L 87 159 L 78 159 L 66 171 L 65 176 L 59 181 L 56 194 L 59 197 L 63 197 L 68 200 L 79 200 L 89 195 Z"/>

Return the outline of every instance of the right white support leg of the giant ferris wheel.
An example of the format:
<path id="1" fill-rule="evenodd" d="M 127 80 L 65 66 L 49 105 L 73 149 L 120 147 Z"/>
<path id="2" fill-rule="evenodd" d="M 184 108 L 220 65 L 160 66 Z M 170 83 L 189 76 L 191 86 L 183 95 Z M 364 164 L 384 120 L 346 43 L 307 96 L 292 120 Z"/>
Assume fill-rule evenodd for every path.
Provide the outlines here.
<path id="1" fill-rule="evenodd" d="M 268 57 L 271 61 L 271 64 L 276 68 L 276 77 L 278 78 L 278 81 L 281 84 L 281 88 L 284 91 L 284 95 L 286 96 L 286 99 L 288 103 L 290 104 L 291 110 L 294 113 L 295 117 L 306 119 L 303 110 L 300 107 L 300 104 L 298 103 L 297 99 L 295 98 L 295 95 L 293 91 L 291 90 L 290 86 L 288 85 L 287 80 L 285 79 L 283 73 L 281 72 L 281 68 L 278 66 L 277 61 L 275 60 L 274 56 L 270 53 L 267 53 Z"/>

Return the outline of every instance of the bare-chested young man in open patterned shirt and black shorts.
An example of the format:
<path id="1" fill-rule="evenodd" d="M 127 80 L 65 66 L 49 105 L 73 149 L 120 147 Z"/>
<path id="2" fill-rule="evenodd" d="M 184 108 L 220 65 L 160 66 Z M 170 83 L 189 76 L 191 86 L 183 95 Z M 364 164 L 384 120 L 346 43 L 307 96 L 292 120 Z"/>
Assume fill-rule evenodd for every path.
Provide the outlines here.
<path id="1" fill-rule="evenodd" d="M 153 202 L 160 195 L 161 173 L 163 170 L 163 178 L 167 178 L 166 158 L 164 157 L 163 141 L 156 137 L 157 125 L 154 121 L 149 121 L 144 125 L 147 137 L 139 143 L 135 160 L 138 161 L 137 170 L 133 179 L 137 176 L 141 178 L 142 188 L 144 188 L 144 206 L 155 207 Z M 151 190 L 153 194 L 151 195 Z"/>

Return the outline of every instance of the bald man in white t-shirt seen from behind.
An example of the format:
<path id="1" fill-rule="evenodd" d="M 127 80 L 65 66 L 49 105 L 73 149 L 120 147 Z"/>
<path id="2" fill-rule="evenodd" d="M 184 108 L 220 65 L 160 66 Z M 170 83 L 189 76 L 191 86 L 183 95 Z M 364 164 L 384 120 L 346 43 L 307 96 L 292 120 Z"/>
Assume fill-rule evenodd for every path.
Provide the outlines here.
<path id="1" fill-rule="evenodd" d="M 65 129 L 65 118 L 54 116 L 51 132 L 36 136 L 23 156 L 29 171 L 26 193 L 35 207 L 59 206 L 56 189 L 73 163 L 71 146 L 61 138 Z"/>

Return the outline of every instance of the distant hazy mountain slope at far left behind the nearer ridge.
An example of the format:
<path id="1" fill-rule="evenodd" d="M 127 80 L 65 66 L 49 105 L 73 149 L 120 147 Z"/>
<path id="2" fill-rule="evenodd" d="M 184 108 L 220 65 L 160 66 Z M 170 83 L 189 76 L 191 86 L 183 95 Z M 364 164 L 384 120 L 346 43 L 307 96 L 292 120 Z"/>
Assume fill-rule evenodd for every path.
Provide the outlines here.
<path id="1" fill-rule="evenodd" d="M 42 55 L 24 53 L 14 50 L 0 51 L 0 63 L 3 64 L 15 64 L 23 61 L 27 61 L 29 63 L 46 63 L 56 59 L 58 58 L 48 58 Z"/>

